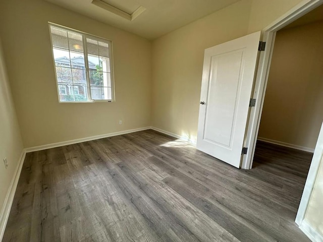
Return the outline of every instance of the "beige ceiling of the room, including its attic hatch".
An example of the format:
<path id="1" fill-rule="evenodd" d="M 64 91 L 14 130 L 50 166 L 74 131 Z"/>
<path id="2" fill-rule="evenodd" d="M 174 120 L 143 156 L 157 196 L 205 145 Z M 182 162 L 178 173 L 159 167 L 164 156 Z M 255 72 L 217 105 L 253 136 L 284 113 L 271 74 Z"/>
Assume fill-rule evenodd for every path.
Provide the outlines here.
<path id="1" fill-rule="evenodd" d="M 239 0 L 45 0 L 100 22 L 155 39 Z"/>

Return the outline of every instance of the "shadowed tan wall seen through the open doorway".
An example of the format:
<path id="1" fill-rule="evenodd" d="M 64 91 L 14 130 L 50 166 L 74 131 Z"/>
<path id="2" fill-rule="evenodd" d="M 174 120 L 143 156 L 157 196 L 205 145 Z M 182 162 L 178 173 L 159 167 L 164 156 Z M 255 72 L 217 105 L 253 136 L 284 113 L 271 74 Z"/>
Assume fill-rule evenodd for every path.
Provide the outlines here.
<path id="1" fill-rule="evenodd" d="M 323 22 L 277 32 L 258 137 L 314 149 L 323 120 Z"/>

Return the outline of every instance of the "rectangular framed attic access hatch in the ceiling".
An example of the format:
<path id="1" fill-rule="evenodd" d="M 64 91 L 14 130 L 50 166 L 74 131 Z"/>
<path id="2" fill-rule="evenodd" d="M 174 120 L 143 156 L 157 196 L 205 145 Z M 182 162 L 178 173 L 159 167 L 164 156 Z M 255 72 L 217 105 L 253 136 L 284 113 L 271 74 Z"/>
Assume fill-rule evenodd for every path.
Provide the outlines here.
<path id="1" fill-rule="evenodd" d="M 133 0 L 93 0 L 92 4 L 130 21 L 146 10 Z"/>

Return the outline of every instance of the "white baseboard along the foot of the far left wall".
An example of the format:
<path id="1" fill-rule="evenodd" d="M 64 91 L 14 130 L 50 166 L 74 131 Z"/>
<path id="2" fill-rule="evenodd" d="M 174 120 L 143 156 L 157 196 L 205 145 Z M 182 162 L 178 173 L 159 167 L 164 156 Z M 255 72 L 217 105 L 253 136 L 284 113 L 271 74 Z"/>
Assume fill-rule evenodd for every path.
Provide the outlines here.
<path id="1" fill-rule="evenodd" d="M 26 157 L 26 151 L 23 150 L 21 152 L 19 162 L 17 164 L 15 173 L 14 173 L 13 178 L 11 180 L 11 183 L 10 183 L 10 186 L 9 186 L 9 189 L 7 192 L 7 196 L 5 198 L 4 206 L 3 206 L 1 213 L 0 213 L 0 241 L 2 241 L 4 233 L 5 233 L 7 221 L 9 218 L 12 203 L 14 201 L 15 192 L 16 192 L 18 180 L 20 177 L 20 172 L 21 172 L 25 157 Z"/>

